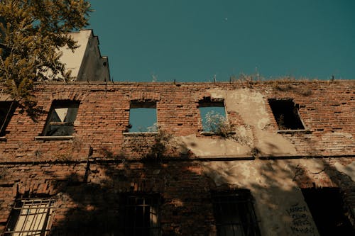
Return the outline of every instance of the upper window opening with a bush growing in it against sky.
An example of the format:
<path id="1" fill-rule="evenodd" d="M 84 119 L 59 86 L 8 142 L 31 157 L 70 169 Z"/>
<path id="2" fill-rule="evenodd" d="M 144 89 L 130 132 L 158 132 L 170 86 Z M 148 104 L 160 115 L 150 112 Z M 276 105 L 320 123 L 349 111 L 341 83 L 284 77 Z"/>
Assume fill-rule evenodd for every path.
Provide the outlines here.
<path id="1" fill-rule="evenodd" d="M 226 124 L 226 109 L 224 101 L 211 101 L 206 98 L 199 102 L 202 130 L 204 132 L 219 133 L 219 128 Z"/>

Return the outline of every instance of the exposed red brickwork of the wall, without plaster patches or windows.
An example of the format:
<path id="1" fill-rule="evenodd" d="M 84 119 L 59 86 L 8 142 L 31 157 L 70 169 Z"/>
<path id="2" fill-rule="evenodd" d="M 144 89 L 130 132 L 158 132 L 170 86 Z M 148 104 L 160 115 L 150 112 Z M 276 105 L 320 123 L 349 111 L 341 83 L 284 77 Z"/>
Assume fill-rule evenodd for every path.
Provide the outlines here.
<path id="1" fill-rule="evenodd" d="M 173 145 L 154 159 L 160 154 L 150 153 L 157 136 L 127 134 L 126 129 L 130 101 L 156 101 L 158 125 L 169 140 L 188 135 L 219 140 L 221 137 L 201 134 L 198 110 L 198 102 L 214 96 L 211 91 L 216 89 L 260 93 L 271 120 L 263 130 L 271 133 L 276 133 L 278 125 L 268 99 L 294 99 L 307 131 L 281 135 L 295 146 L 297 154 L 292 158 L 315 157 L 326 167 L 317 173 L 300 165 L 291 178 L 300 187 L 339 187 L 347 193 L 349 209 L 354 208 L 354 181 L 334 167 L 335 162 L 344 166 L 354 162 L 354 86 L 352 81 L 38 84 L 35 96 L 44 113 L 33 120 L 17 109 L 0 140 L 0 232 L 19 197 L 58 199 L 53 235 L 109 235 L 117 227 L 121 193 L 158 193 L 163 199 L 163 235 L 215 235 L 210 191 L 243 184 L 226 180 L 218 186 L 204 173 L 202 162 L 228 164 L 238 158 L 250 162 L 259 158 L 273 163 L 269 159 L 291 157 L 244 153 L 230 159 L 204 159 L 187 147 Z M 80 101 L 74 137 L 35 140 L 43 132 L 52 101 L 61 99 Z M 238 111 L 226 109 L 231 125 L 246 125 Z M 140 145 L 146 147 L 137 149 Z M 146 154 L 153 154 L 153 159 Z M 257 209 L 257 213 L 263 218 L 263 210 Z M 272 235 L 261 221 L 263 235 Z"/>

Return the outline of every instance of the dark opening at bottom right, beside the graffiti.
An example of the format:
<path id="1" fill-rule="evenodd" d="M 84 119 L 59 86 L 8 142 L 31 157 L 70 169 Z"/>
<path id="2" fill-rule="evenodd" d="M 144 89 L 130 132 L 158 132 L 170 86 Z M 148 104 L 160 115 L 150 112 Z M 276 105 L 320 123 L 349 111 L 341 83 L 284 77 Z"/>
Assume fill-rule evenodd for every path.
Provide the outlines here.
<path id="1" fill-rule="evenodd" d="M 321 236 L 355 235 L 339 189 L 310 188 L 302 189 L 302 193 Z"/>

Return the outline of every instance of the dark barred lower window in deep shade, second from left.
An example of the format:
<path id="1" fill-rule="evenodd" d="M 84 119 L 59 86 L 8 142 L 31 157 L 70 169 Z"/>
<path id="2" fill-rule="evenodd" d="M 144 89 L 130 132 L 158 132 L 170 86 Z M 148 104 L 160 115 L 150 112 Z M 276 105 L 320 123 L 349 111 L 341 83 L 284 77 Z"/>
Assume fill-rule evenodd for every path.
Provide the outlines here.
<path id="1" fill-rule="evenodd" d="M 160 197 L 158 194 L 126 195 L 121 198 L 122 235 L 159 236 Z"/>

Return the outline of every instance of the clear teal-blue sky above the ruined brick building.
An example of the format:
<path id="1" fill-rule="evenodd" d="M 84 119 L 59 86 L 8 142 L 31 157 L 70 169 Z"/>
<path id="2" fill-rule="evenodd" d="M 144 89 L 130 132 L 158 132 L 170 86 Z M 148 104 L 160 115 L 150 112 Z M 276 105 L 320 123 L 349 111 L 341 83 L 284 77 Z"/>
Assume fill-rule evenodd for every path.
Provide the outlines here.
<path id="1" fill-rule="evenodd" d="M 92 0 L 90 26 L 121 82 L 355 79 L 354 0 Z"/>

